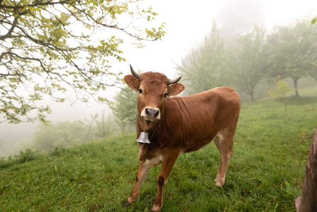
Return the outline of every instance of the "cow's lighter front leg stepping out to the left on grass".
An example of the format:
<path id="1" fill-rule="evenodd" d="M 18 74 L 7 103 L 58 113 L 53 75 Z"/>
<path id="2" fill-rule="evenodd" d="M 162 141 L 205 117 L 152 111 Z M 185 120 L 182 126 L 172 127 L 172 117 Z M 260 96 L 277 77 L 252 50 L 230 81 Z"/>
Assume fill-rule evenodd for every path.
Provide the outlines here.
<path id="1" fill-rule="evenodd" d="M 137 176 L 136 176 L 135 185 L 134 185 L 133 190 L 130 194 L 130 197 L 124 203 L 125 206 L 129 206 L 130 204 L 132 204 L 136 200 L 136 198 L 138 197 L 141 185 L 142 185 L 149 169 L 150 169 L 149 166 L 143 165 L 143 163 L 140 162 Z"/>

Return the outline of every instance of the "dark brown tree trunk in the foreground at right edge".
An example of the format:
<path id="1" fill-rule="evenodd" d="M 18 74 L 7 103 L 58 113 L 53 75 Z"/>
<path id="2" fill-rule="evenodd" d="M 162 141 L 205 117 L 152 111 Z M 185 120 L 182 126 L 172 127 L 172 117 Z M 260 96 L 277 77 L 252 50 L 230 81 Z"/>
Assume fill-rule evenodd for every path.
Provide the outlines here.
<path id="1" fill-rule="evenodd" d="M 297 212 L 317 211 L 317 128 L 307 160 L 302 195 L 294 200 Z"/>

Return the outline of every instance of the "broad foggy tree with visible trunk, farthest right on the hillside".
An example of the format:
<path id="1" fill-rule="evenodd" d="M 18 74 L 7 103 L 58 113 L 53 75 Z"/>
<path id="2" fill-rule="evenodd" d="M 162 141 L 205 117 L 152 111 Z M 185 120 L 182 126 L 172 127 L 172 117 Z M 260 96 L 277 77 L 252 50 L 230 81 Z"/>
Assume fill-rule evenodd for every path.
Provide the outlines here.
<path id="1" fill-rule="evenodd" d="M 308 28 L 310 27 L 310 28 Z M 312 33 L 316 25 L 307 25 L 307 21 L 297 21 L 289 26 L 276 27 L 268 37 L 270 49 L 270 72 L 268 77 L 292 78 L 295 95 L 298 93 L 298 80 L 303 77 L 317 79 L 317 43 Z"/>

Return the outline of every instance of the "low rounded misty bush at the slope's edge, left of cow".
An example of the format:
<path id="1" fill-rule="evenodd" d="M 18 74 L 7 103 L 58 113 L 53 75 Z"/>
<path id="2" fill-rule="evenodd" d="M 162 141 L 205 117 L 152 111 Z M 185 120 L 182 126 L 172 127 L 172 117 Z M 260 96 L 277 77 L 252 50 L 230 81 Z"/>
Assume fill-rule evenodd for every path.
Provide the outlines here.
<path id="1" fill-rule="evenodd" d="M 92 140 L 88 129 L 80 122 L 65 121 L 57 124 L 40 124 L 33 135 L 32 145 L 38 151 L 49 151 L 56 147 L 70 147 Z"/>

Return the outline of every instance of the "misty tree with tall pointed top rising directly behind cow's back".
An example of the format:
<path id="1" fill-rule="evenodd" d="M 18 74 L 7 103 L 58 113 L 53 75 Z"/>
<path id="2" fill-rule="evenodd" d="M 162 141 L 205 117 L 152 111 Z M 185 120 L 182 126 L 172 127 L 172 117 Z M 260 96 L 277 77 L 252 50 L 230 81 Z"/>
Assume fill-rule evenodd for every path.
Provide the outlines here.
<path id="1" fill-rule="evenodd" d="M 197 93 L 225 85 L 226 76 L 222 71 L 224 56 L 224 43 L 219 38 L 214 22 L 204 44 L 182 59 L 181 65 L 176 64 L 183 82 L 188 85 L 186 93 Z"/>

